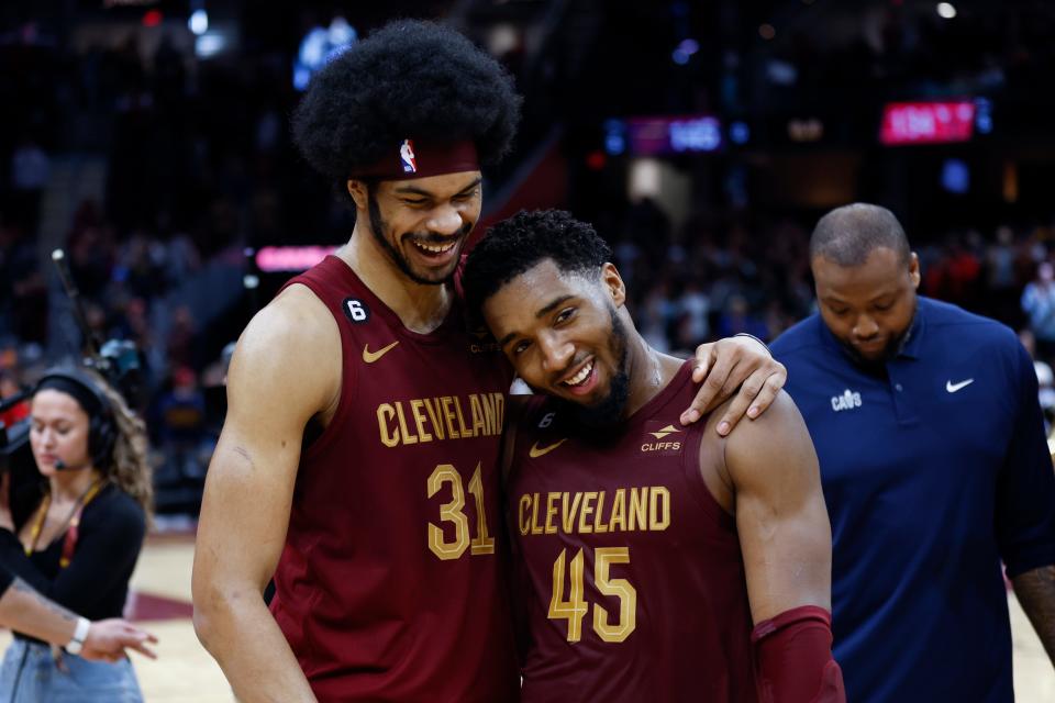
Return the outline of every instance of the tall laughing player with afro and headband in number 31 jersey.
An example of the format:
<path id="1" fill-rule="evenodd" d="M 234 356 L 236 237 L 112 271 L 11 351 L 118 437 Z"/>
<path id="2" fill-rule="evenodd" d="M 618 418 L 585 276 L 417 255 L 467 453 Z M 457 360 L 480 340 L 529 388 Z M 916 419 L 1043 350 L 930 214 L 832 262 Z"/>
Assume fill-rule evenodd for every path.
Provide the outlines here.
<path id="1" fill-rule="evenodd" d="M 452 280 L 519 102 L 467 40 L 406 22 L 334 58 L 297 110 L 301 153 L 356 223 L 231 362 L 193 592 L 241 701 L 519 695 L 498 498 L 513 372 Z M 782 386 L 753 341 L 702 356 L 704 392 L 744 382 L 741 415 Z"/>

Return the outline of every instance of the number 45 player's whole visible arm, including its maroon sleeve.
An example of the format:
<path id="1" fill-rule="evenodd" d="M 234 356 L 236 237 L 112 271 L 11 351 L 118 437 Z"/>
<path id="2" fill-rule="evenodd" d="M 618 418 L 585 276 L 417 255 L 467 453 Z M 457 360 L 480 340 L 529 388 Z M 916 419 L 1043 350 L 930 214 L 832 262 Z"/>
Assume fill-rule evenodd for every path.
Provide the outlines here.
<path id="1" fill-rule="evenodd" d="M 817 454 L 780 393 L 725 443 L 765 703 L 845 703 L 832 658 L 832 535 Z"/>

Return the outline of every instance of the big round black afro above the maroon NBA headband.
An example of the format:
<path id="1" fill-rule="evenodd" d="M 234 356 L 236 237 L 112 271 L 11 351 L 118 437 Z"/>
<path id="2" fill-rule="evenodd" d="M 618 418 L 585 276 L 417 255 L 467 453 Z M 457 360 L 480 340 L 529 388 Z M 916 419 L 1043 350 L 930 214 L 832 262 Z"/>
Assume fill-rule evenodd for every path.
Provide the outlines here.
<path id="1" fill-rule="evenodd" d="M 463 35 L 392 22 L 331 60 L 293 111 L 293 142 L 344 182 L 406 138 L 471 140 L 482 165 L 509 152 L 521 99 L 512 78 Z"/>

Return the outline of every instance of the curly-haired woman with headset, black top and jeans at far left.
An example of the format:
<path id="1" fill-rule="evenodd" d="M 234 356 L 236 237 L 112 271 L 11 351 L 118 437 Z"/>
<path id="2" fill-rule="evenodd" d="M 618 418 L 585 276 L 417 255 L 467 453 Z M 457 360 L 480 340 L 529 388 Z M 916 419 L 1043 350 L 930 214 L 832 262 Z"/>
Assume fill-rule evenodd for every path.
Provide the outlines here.
<path id="1" fill-rule="evenodd" d="M 0 561 L 89 620 L 120 617 L 153 493 L 143 422 L 84 368 L 45 372 L 31 417 L 43 490 L 18 521 L 0 491 Z M 75 633 L 59 649 L 15 633 L 0 668 L 0 703 L 142 701 L 131 662 L 89 661 L 78 656 L 82 639 Z"/>

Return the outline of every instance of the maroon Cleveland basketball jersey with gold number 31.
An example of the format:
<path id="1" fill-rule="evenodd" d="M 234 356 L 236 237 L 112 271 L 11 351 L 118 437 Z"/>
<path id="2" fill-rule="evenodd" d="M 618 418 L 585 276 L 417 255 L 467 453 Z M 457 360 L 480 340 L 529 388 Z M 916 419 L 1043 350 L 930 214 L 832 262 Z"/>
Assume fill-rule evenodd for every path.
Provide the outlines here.
<path id="1" fill-rule="evenodd" d="M 304 450 L 271 612 L 320 701 L 518 696 L 497 457 L 512 372 L 463 309 L 430 334 L 336 257 L 333 421 Z"/>

